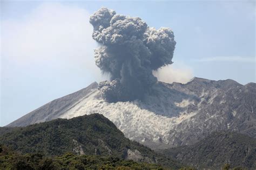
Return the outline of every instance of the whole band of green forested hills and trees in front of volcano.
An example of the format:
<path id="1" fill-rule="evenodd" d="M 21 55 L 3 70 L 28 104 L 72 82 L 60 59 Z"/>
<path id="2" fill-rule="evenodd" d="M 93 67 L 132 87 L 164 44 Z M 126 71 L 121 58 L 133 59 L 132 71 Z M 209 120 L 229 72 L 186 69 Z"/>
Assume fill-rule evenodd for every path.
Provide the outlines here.
<path id="1" fill-rule="evenodd" d="M 256 140 L 239 133 L 215 132 L 192 146 L 156 153 L 99 114 L 0 128 L 0 169 L 241 170 L 256 169 L 255 160 Z"/>

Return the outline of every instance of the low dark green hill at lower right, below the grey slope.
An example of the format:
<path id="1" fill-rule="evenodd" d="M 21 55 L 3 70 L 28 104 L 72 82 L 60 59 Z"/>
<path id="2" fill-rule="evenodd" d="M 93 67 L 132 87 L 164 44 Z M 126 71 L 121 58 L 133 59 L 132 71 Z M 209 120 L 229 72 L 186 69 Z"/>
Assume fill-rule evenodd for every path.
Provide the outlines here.
<path id="1" fill-rule="evenodd" d="M 256 139 L 235 132 L 213 132 L 194 145 L 159 152 L 200 168 L 231 164 L 256 169 Z"/>

